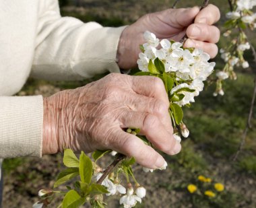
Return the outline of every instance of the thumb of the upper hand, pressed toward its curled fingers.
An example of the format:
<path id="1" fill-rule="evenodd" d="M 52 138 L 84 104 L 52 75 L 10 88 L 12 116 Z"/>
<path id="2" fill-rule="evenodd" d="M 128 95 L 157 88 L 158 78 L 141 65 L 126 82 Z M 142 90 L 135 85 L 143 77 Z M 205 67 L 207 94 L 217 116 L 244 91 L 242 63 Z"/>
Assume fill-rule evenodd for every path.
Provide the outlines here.
<path id="1" fill-rule="evenodd" d="M 170 9 L 170 21 L 177 27 L 187 27 L 194 22 L 199 10 L 199 7 Z"/>

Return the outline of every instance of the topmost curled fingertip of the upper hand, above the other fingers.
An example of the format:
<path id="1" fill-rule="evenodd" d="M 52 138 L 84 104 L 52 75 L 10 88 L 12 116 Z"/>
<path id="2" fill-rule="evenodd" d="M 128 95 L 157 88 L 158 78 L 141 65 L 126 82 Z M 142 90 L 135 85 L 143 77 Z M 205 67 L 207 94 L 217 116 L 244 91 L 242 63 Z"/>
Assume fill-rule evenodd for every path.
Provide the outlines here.
<path id="1" fill-rule="evenodd" d="M 212 25 L 220 20 L 220 9 L 215 5 L 207 5 L 195 18 L 195 23 Z"/>

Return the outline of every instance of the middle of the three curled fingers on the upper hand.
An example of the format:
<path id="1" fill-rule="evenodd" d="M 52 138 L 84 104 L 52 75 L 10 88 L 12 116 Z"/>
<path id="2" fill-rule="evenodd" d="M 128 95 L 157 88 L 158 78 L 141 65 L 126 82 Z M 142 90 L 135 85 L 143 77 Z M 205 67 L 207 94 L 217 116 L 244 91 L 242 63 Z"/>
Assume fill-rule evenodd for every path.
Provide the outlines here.
<path id="1" fill-rule="evenodd" d="M 216 43 L 220 40 L 220 30 L 207 24 L 191 24 L 187 28 L 187 36 L 194 40 Z"/>

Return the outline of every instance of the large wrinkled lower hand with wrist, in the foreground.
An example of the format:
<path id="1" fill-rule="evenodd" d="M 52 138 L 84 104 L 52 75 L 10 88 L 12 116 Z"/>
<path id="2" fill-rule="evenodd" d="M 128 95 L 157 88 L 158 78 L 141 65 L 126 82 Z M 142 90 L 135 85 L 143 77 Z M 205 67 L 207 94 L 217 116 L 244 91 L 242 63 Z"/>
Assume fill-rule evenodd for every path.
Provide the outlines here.
<path id="1" fill-rule="evenodd" d="M 42 153 L 113 149 L 134 156 L 142 166 L 160 168 L 164 158 L 123 129 L 139 128 L 156 148 L 178 153 L 181 145 L 172 137 L 168 108 L 164 84 L 157 77 L 113 73 L 82 88 L 59 92 L 44 98 Z"/>

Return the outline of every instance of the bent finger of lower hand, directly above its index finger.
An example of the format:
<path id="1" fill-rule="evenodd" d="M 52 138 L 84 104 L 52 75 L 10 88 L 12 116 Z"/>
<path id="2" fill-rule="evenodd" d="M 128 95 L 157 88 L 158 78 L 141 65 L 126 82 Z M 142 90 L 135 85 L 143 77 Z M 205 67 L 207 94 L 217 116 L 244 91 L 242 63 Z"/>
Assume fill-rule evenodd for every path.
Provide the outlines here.
<path id="1" fill-rule="evenodd" d="M 127 93 L 126 95 L 124 93 L 123 96 L 129 96 L 130 98 L 126 102 L 129 109 L 136 112 L 148 112 L 158 116 L 165 129 L 172 132 L 172 122 L 168 114 L 169 104 L 166 104 L 162 100 L 141 96 L 139 94 L 133 94 L 131 96 L 131 94 Z"/>

